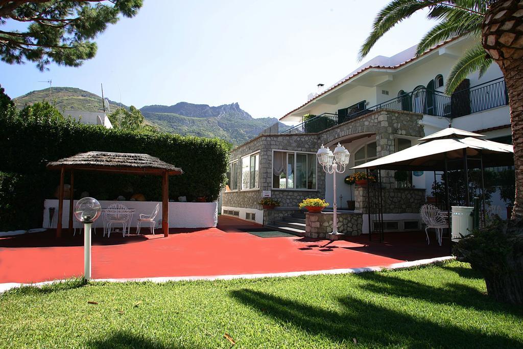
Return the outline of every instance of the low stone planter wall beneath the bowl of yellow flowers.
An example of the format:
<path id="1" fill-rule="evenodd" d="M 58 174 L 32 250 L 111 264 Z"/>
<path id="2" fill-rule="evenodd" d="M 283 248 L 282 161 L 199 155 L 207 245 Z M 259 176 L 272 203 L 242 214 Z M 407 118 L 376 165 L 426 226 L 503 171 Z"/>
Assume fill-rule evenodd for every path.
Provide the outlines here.
<path id="1" fill-rule="evenodd" d="M 312 239 L 325 239 L 332 233 L 333 213 L 305 213 L 305 236 Z M 361 213 L 338 213 L 338 232 L 345 235 L 360 235 L 363 227 Z"/>

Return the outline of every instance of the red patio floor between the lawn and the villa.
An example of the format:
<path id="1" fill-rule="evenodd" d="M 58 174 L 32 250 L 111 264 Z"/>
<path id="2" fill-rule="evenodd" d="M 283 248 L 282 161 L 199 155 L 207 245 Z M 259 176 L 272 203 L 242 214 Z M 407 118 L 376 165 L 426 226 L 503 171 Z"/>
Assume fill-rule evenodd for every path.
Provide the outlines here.
<path id="1" fill-rule="evenodd" d="M 232 217 L 218 228 L 171 229 L 163 234 L 93 238 L 92 277 L 145 278 L 266 274 L 386 266 L 449 254 L 427 245 L 424 232 L 368 235 L 329 242 L 300 237 L 259 238 L 240 229 L 258 224 Z M 435 243 L 435 239 L 433 240 Z M 54 232 L 0 238 L 0 283 L 31 283 L 83 273 L 83 235 L 55 239 Z"/>

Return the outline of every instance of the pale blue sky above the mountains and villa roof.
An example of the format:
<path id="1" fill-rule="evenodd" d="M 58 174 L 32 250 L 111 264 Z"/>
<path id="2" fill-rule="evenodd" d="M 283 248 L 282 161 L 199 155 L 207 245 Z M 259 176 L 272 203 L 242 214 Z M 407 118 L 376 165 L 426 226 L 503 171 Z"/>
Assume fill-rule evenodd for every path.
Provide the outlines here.
<path id="1" fill-rule="evenodd" d="M 253 117 L 282 117 L 362 64 L 359 48 L 382 0 L 145 0 L 96 39 L 81 67 L 0 62 L 0 84 L 14 98 L 69 86 L 141 108 L 178 102 L 239 103 Z M 369 53 L 390 56 L 434 25 L 414 15 Z M 366 60 L 367 60 L 366 59 Z M 365 61 L 365 60 L 364 60 Z M 363 62 L 364 62 L 363 61 Z"/>

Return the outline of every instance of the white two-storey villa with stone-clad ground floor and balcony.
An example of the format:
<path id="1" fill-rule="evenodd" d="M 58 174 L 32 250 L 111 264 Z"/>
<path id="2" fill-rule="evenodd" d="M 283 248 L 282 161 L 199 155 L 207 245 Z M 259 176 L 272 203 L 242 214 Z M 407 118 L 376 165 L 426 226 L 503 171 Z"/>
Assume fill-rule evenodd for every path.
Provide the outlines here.
<path id="1" fill-rule="evenodd" d="M 309 95 L 304 104 L 280 118 L 293 127 L 277 134 L 261 134 L 232 151 L 230 186 L 223 197 L 225 214 L 272 224 L 285 209 L 291 215 L 305 197 L 324 197 L 332 203 L 333 177 L 325 176 L 317 164 L 316 168 L 309 164 L 315 161 L 311 154 L 322 143 L 329 147 L 338 142 L 344 145 L 351 153 L 350 168 L 410 147 L 449 124 L 485 134 L 488 139 L 510 142 L 508 96 L 503 74 L 495 63 L 481 78 L 471 74 L 451 96 L 443 92 L 453 65 L 473 43 L 472 38 L 460 37 L 419 57 L 415 47 L 391 57 L 379 56 L 332 86 Z M 344 207 L 344 201 L 357 194 L 354 186 L 344 184 L 344 177 L 353 172 L 347 170 L 337 176 L 338 207 Z M 299 184 L 304 176 L 308 179 Z M 385 176 L 393 177 L 393 173 Z M 417 197 L 424 201 L 431 194 L 434 172 L 409 176 L 407 186 L 415 188 Z M 395 189 L 394 183 L 391 189 Z M 261 210 L 257 204 L 261 194 L 269 190 L 271 197 L 282 202 L 276 218 L 276 213 Z M 504 207 L 496 193 L 492 199 Z M 384 220 L 399 222 L 396 225 L 403 229 L 403 221 L 417 219 L 416 205 L 406 209 L 408 213 L 385 212 Z"/>

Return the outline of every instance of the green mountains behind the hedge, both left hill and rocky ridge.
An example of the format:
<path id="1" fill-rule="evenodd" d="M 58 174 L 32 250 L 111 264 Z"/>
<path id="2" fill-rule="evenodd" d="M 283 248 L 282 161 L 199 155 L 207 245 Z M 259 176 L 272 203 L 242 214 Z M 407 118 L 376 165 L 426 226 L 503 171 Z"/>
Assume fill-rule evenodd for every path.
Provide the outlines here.
<path id="1" fill-rule="evenodd" d="M 107 98 L 106 98 L 107 99 Z M 64 109 L 102 111 L 101 97 L 74 87 L 51 87 L 32 91 L 13 99 L 16 106 L 47 100 L 60 111 Z M 119 103 L 109 101 L 110 110 Z M 127 108 L 127 106 L 122 105 Z M 150 105 L 140 109 L 145 122 L 158 127 L 163 132 L 178 133 L 183 136 L 218 137 L 235 145 L 242 144 L 258 136 L 267 127 L 278 122 L 276 118 L 255 119 L 238 103 L 212 107 L 207 104 L 180 102 L 172 106 Z M 285 127 L 280 123 L 280 128 Z"/>

